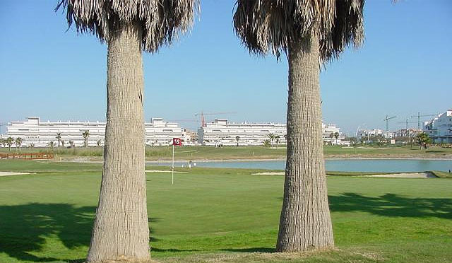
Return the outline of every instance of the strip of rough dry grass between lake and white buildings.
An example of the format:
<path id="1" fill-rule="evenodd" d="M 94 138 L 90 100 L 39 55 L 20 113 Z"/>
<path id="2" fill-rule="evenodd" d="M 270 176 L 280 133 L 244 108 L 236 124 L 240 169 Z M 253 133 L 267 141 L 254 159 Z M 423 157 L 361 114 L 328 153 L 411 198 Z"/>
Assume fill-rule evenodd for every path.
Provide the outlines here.
<path id="1" fill-rule="evenodd" d="M 391 146 L 388 148 L 343 148 L 342 146 L 323 146 L 326 158 L 452 158 L 452 148 L 432 146 L 419 149 L 419 146 Z M 16 151 L 12 148 L 11 151 Z M 22 151 L 37 152 L 49 151 L 48 148 L 23 148 Z M 0 152 L 8 152 L 8 148 L 0 148 Z M 57 158 L 76 158 L 78 156 L 100 160 L 103 154 L 102 147 L 90 148 L 54 148 Z M 175 149 L 175 158 L 178 160 L 221 160 L 221 159 L 275 159 L 285 158 L 286 149 L 282 147 L 270 148 L 263 146 L 184 146 Z M 147 160 L 170 160 L 172 158 L 171 146 L 146 147 Z"/>

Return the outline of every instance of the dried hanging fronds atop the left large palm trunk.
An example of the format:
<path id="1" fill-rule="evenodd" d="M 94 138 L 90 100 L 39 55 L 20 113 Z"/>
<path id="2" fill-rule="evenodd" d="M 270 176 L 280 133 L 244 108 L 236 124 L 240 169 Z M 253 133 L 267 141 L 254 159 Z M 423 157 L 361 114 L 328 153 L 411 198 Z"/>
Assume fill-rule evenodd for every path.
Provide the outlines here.
<path id="1" fill-rule="evenodd" d="M 156 52 L 186 32 L 199 11 L 199 0 L 61 0 L 55 10 L 66 10 L 69 26 L 77 32 L 93 33 L 102 42 L 119 23 L 139 21 L 143 25 L 143 49 Z"/>

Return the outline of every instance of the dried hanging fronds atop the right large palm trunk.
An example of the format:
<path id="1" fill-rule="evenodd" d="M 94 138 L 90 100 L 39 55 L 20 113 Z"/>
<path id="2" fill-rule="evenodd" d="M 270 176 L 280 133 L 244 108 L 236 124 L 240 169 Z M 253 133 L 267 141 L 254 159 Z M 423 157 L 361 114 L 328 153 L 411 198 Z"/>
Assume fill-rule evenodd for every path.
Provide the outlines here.
<path id="1" fill-rule="evenodd" d="M 280 57 L 316 30 L 322 62 L 363 38 L 364 0 L 237 0 L 234 30 L 250 52 Z"/>

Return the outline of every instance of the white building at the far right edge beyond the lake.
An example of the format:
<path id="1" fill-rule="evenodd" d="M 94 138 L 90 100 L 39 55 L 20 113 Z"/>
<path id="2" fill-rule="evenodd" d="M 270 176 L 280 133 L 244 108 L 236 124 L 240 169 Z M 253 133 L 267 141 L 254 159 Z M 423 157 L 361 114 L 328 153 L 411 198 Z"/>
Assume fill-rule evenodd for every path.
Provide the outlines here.
<path id="1" fill-rule="evenodd" d="M 452 144 L 452 110 L 447 110 L 429 122 L 424 122 L 422 131 L 429 134 L 436 144 Z"/>

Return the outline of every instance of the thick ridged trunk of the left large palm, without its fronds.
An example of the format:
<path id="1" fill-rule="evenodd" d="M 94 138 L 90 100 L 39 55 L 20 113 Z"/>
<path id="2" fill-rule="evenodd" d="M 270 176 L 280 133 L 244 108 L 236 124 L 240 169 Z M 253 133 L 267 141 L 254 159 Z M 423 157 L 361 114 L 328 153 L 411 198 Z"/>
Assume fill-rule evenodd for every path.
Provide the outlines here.
<path id="1" fill-rule="evenodd" d="M 88 262 L 150 260 L 141 38 L 139 23 L 110 31 L 104 166 Z"/>

